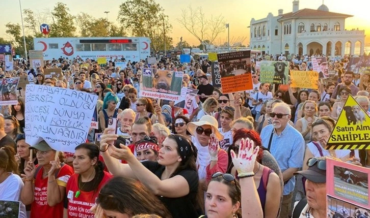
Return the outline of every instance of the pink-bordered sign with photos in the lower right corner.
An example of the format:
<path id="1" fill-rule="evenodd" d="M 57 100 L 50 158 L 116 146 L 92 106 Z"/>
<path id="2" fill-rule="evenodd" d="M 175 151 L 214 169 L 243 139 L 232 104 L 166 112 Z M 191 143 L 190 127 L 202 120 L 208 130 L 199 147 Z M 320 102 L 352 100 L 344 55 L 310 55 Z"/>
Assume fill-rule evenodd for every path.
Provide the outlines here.
<path id="1" fill-rule="evenodd" d="M 369 173 L 370 169 L 365 167 L 326 159 L 328 215 L 346 215 L 330 217 L 365 217 L 358 215 L 369 213 Z"/>

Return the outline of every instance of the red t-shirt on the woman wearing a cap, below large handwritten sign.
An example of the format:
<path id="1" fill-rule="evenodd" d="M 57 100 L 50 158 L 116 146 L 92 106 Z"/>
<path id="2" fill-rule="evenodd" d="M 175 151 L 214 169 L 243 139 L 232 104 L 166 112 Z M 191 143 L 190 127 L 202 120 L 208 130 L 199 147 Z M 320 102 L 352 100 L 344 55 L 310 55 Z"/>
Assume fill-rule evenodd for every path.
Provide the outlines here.
<path id="1" fill-rule="evenodd" d="M 36 175 L 35 180 L 35 199 L 31 204 L 31 218 L 42 218 L 42 217 L 53 217 L 53 218 L 63 218 L 63 201 L 57 205 L 50 207 L 47 204 L 47 182 L 48 177 L 42 178 L 43 170 L 39 170 Z M 60 186 L 66 187 L 68 179 L 73 174 L 72 167 L 68 165 L 63 165 L 59 170 L 57 176 L 57 183 Z"/>

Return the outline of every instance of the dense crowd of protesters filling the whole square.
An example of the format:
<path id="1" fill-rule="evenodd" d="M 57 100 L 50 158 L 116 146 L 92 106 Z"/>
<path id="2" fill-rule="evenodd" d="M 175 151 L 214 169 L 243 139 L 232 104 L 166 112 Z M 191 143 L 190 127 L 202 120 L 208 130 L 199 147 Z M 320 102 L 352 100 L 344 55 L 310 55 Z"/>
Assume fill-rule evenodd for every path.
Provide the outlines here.
<path id="1" fill-rule="evenodd" d="M 346 69 L 348 56 L 328 57 L 338 81 L 301 89 L 290 87 L 292 81 L 261 83 L 260 60 L 312 71 L 308 55 L 254 56 L 253 89 L 224 94 L 212 85 L 212 62 L 202 58 L 180 64 L 166 57 L 149 66 L 60 57 L 35 70 L 14 61 L 12 71 L 0 63 L 0 78 L 31 75 L 35 84 L 95 93 L 99 116 L 98 129 L 74 153 L 45 141 L 31 146 L 19 90 L 18 103 L 0 111 L 0 200 L 20 201 L 20 217 L 32 218 L 326 217 L 326 159 L 370 166 L 368 151 L 357 159 L 351 150 L 325 150 L 350 94 L 370 114 L 370 75 Z M 187 109 L 140 97 L 147 67 L 184 73 L 183 86 L 199 90 Z M 62 75 L 45 77 L 45 68 L 61 68 Z M 116 133 L 108 127 L 111 117 L 118 120 Z M 293 209 L 305 195 L 307 203 Z"/>

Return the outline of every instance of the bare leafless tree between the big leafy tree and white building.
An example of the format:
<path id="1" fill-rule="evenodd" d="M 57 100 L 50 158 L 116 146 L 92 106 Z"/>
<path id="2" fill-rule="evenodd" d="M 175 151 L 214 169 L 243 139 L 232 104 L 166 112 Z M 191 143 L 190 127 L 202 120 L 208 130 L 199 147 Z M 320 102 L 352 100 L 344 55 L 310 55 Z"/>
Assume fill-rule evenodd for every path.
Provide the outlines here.
<path id="1" fill-rule="evenodd" d="M 177 20 L 201 44 L 204 44 L 205 40 L 208 40 L 208 44 L 212 44 L 217 36 L 225 31 L 224 17 L 211 15 L 207 19 L 201 7 L 193 9 L 189 6 L 188 9 L 182 9 L 181 18 Z"/>

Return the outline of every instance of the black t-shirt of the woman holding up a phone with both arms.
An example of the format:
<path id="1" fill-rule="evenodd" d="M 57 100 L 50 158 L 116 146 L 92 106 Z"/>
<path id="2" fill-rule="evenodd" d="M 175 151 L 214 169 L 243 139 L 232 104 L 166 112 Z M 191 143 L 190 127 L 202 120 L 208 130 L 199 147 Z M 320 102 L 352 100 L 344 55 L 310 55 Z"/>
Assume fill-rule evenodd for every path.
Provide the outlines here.
<path id="1" fill-rule="evenodd" d="M 161 178 L 165 166 L 152 161 L 145 161 L 142 163 L 158 178 Z M 166 198 L 163 196 L 158 196 L 158 198 L 166 205 L 173 218 L 198 218 L 199 214 L 196 210 L 196 196 L 199 185 L 198 173 L 194 170 L 182 170 L 176 175 L 181 175 L 188 181 L 189 194 L 179 198 Z"/>

